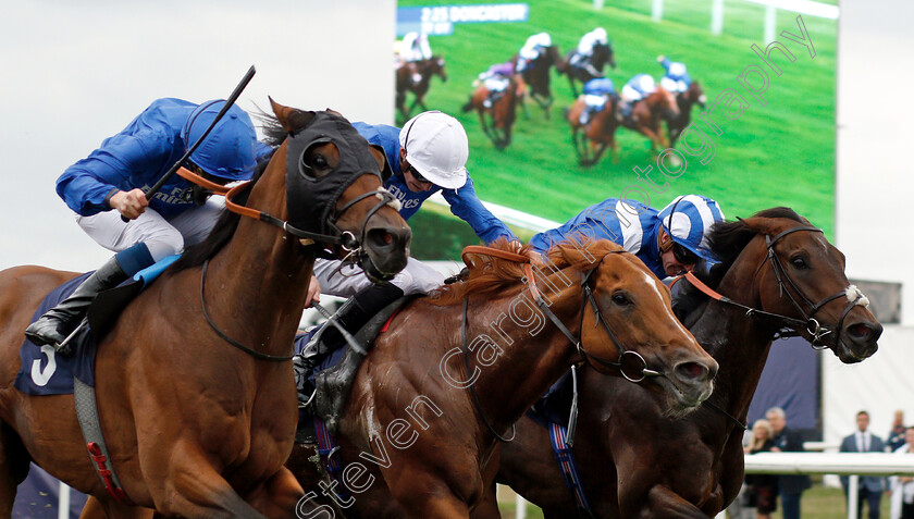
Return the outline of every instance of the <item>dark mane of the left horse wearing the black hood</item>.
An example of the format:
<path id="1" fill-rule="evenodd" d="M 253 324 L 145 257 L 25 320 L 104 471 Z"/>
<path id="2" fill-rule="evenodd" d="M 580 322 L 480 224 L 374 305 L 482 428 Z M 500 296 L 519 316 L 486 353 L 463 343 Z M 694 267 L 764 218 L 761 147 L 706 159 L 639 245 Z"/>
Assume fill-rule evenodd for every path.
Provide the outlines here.
<path id="1" fill-rule="evenodd" d="M 288 137 L 288 131 L 283 127 L 275 116 L 269 115 L 261 110 L 255 113 L 255 118 L 261 123 L 261 128 L 263 129 L 262 141 L 264 144 L 275 148 L 280 146 L 286 137 Z M 301 125 L 301 127 L 304 126 L 306 126 L 306 124 Z M 296 127 L 293 131 L 295 129 L 300 128 Z M 242 193 L 238 194 L 237 198 L 235 198 L 234 201 L 236 203 L 240 206 L 247 203 L 251 188 L 263 175 L 263 172 L 267 171 L 267 165 L 270 163 L 270 159 L 272 159 L 272 157 L 273 155 L 270 153 L 257 164 L 250 183 Z M 232 236 L 235 234 L 235 230 L 238 228 L 240 218 L 240 214 L 223 210 L 209 236 L 199 244 L 188 247 L 184 254 L 181 255 L 181 258 L 172 263 L 165 272 L 174 274 L 181 272 L 182 270 L 203 264 L 206 260 L 215 256 L 215 254 L 222 250 L 222 247 L 232 239 Z"/>

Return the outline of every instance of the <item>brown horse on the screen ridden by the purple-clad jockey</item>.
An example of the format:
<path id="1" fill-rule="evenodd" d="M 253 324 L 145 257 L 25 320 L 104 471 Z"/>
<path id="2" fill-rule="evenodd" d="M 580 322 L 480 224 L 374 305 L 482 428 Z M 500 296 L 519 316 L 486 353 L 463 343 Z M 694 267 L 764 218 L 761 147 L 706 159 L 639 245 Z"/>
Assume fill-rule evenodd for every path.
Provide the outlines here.
<path id="1" fill-rule="evenodd" d="M 518 74 L 510 76 L 508 85 L 501 92 L 492 92 L 480 84 L 464 104 L 464 112 L 475 110 L 482 132 L 496 149 L 503 150 L 511 144 L 511 127 L 517 119 L 517 103 L 526 89 Z"/>

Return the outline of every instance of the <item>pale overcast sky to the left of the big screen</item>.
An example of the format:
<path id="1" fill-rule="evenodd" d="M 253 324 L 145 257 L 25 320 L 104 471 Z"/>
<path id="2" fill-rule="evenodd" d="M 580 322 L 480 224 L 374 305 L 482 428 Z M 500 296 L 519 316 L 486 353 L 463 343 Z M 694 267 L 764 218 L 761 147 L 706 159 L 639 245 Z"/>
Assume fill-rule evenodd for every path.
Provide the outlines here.
<path id="1" fill-rule="evenodd" d="M 394 22 L 394 0 L 3 2 L 0 269 L 87 271 L 111 256 L 54 181 L 155 99 L 225 98 L 255 65 L 249 112 L 272 96 L 392 123 Z"/>

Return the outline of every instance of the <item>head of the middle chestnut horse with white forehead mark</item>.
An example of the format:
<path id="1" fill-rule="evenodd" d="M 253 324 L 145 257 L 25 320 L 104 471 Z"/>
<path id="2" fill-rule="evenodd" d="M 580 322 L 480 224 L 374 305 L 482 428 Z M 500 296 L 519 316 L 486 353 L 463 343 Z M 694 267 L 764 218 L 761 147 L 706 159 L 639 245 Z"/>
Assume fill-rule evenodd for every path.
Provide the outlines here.
<path id="1" fill-rule="evenodd" d="M 582 273 L 579 349 L 591 366 L 662 393 L 672 415 L 712 393 L 717 362 L 672 313 L 669 289 L 634 255 L 608 242 L 559 245 L 549 259 Z M 608 361 L 607 359 L 618 359 Z"/>

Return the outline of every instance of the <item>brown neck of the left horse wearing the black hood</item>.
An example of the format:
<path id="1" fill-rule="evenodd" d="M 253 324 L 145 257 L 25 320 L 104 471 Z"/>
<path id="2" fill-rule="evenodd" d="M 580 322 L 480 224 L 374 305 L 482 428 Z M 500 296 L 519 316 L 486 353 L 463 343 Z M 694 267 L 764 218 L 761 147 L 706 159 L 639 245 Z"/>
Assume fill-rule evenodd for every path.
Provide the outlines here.
<path id="1" fill-rule="evenodd" d="M 285 160 L 276 152 L 276 160 Z M 247 207 L 286 218 L 285 178 L 264 174 Z M 299 252 L 283 231 L 243 217 L 231 240 L 212 258 L 206 277 L 207 310 L 220 329 L 270 355 L 288 355 L 305 307 L 314 258 Z"/>

